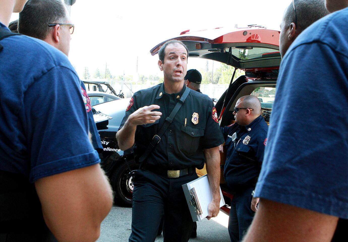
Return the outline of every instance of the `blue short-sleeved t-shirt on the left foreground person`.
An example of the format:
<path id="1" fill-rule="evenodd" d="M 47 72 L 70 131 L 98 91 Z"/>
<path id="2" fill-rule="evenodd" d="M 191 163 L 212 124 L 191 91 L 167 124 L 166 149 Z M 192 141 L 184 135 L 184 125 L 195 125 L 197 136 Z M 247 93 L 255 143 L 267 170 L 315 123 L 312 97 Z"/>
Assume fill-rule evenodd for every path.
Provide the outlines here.
<path id="1" fill-rule="evenodd" d="M 68 58 L 25 35 L 0 43 L 0 170 L 34 182 L 100 162 L 88 139 L 81 82 Z"/>

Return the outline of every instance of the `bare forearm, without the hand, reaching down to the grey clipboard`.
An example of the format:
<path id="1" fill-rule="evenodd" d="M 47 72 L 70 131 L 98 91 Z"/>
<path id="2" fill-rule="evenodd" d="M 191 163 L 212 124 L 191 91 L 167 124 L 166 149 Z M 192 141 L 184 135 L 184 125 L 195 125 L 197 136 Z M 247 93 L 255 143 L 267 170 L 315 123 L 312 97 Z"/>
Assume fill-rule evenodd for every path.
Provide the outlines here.
<path id="1" fill-rule="evenodd" d="M 218 147 L 205 150 L 206 169 L 213 201 L 220 201 L 220 153 Z"/>

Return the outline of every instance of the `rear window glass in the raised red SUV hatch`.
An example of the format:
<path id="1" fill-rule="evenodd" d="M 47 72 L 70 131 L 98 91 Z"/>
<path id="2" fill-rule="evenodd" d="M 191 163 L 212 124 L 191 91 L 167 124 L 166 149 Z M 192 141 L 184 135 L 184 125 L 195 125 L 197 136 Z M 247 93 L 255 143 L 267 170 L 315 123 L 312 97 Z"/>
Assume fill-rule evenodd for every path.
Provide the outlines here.
<path id="1" fill-rule="evenodd" d="M 280 56 L 279 51 L 266 48 L 232 49 L 232 55 L 245 61 L 256 58 Z"/>

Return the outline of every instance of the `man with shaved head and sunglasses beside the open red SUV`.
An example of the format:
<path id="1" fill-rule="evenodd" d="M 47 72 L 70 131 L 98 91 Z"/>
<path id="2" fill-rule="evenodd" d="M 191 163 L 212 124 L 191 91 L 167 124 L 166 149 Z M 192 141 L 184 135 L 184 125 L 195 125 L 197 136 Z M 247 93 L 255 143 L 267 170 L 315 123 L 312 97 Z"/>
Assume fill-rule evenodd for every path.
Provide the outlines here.
<path id="1" fill-rule="evenodd" d="M 268 127 L 261 116 L 261 103 L 257 97 L 239 98 L 234 109 L 236 123 L 221 130 L 226 140 L 224 178 L 235 192 L 228 231 L 231 241 L 237 242 L 242 239 L 257 210 L 258 198 L 253 198 L 252 193 L 261 170 Z"/>

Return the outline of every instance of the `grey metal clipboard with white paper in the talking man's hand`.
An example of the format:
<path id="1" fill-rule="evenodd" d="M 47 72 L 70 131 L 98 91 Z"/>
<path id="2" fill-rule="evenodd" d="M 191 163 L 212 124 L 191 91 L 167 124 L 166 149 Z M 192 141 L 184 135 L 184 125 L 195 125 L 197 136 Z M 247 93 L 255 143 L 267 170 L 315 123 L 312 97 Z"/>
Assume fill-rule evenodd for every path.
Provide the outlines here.
<path id="1" fill-rule="evenodd" d="M 201 221 L 208 216 L 208 204 L 212 201 L 212 192 L 209 185 L 208 175 L 201 176 L 196 180 L 182 185 L 185 198 L 192 220 Z M 220 189 L 220 208 L 225 205 L 221 188 Z"/>

